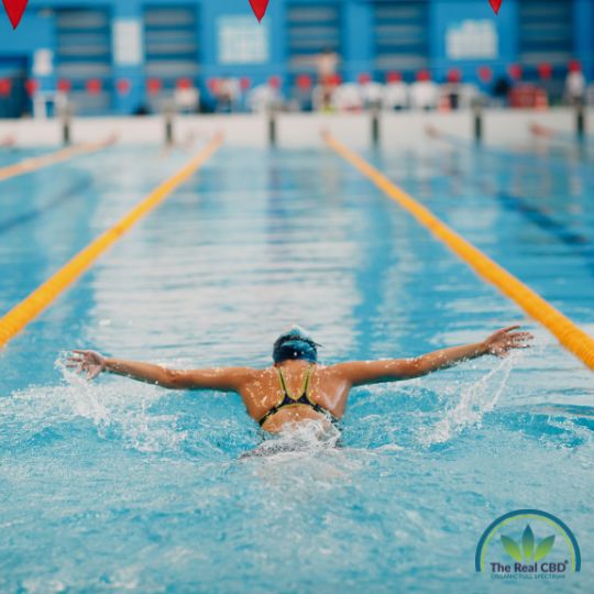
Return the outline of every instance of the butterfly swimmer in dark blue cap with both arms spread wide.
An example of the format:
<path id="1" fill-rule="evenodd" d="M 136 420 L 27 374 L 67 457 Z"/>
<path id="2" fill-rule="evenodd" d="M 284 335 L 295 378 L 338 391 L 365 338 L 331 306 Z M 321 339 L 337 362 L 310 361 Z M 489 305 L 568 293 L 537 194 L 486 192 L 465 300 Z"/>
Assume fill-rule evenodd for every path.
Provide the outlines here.
<path id="1" fill-rule="evenodd" d="M 170 370 L 81 350 L 73 351 L 67 365 L 85 373 L 87 380 L 108 372 L 170 389 L 234 392 L 241 395 L 248 414 L 265 431 L 278 433 L 289 425 L 306 420 L 318 420 L 330 427 L 344 415 L 353 387 L 411 380 L 483 355 L 502 358 L 513 349 L 526 349 L 532 336 L 517 332 L 518 328 L 510 326 L 483 342 L 451 346 L 414 359 L 351 361 L 328 366 L 318 364 L 320 344 L 296 326 L 276 339 L 274 364 L 265 370 Z"/>

